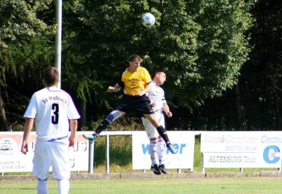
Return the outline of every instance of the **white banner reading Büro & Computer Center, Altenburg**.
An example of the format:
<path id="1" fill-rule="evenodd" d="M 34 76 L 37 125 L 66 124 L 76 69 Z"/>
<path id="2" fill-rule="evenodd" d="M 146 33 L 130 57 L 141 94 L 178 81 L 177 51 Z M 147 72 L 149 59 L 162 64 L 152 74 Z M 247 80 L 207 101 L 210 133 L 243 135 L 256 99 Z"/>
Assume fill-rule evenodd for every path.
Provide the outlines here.
<path id="1" fill-rule="evenodd" d="M 204 168 L 281 168 L 282 131 L 202 131 Z"/>

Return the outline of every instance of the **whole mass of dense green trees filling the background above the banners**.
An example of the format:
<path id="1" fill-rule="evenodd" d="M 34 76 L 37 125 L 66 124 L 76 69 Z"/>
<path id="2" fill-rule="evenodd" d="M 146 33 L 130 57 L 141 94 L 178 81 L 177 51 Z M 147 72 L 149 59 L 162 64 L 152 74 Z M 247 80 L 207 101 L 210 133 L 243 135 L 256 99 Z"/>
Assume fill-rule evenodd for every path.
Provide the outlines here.
<path id="1" fill-rule="evenodd" d="M 167 72 L 169 129 L 280 128 L 280 4 L 64 0 L 62 88 L 83 116 L 80 127 L 115 106 L 122 92 L 106 88 L 136 53 L 150 73 Z M 0 129 L 9 130 L 43 87 L 40 72 L 53 65 L 55 3 L 2 0 L 0 10 Z M 152 28 L 141 24 L 146 12 L 156 16 Z"/>

